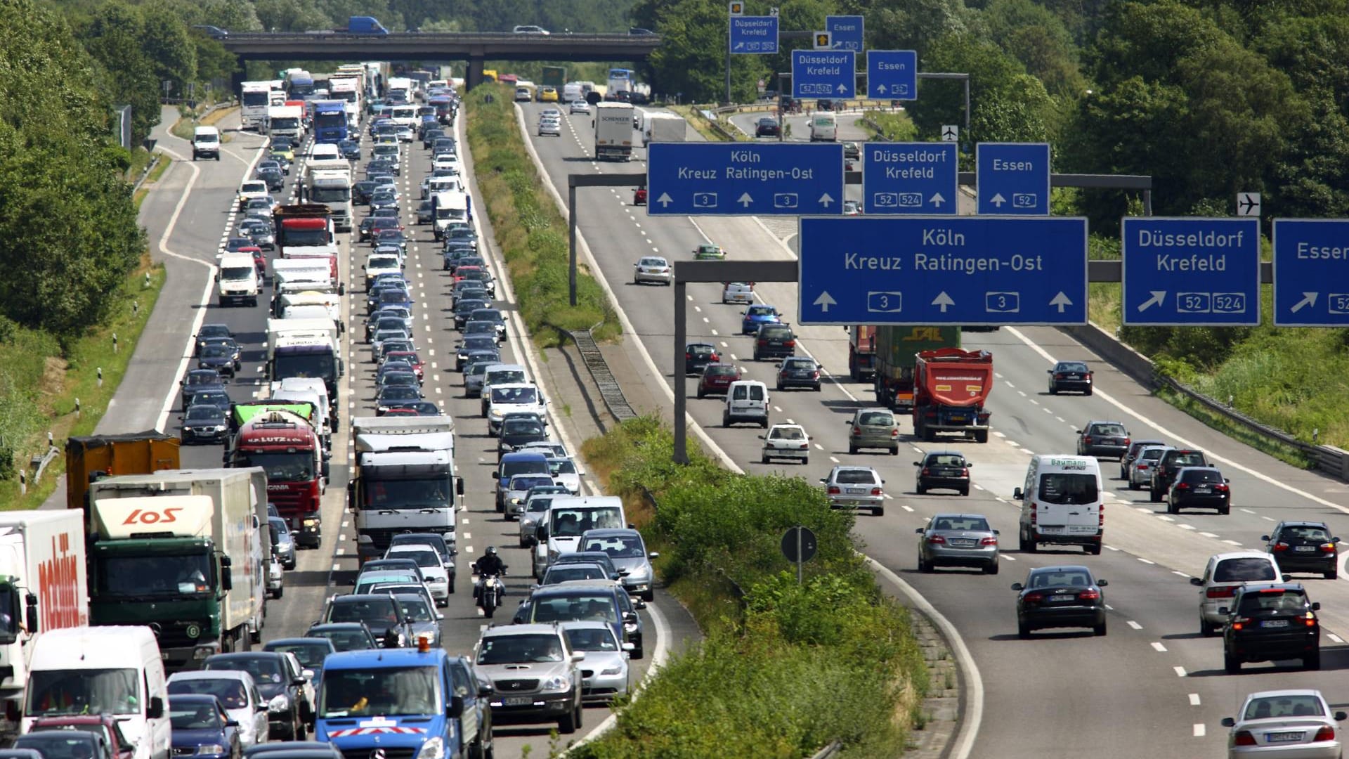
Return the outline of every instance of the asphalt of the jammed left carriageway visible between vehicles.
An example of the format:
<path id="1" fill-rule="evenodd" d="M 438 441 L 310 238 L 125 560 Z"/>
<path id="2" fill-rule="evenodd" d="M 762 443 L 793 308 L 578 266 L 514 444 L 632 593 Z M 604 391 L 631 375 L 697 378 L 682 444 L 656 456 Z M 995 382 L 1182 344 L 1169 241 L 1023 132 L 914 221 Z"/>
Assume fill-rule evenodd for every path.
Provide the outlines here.
<path id="1" fill-rule="evenodd" d="M 166 119 L 175 117 L 173 113 Z M 171 123 L 171 122 L 170 122 Z M 236 212 L 235 193 L 239 182 L 251 177 L 252 166 L 260 158 L 264 139 L 252 132 L 237 130 L 237 116 L 227 119 L 220 124 L 227 135 L 224 155 L 220 162 L 190 162 L 192 147 L 188 142 L 169 134 L 161 135 L 159 146 L 170 151 L 175 158 L 182 157 L 189 161 L 175 163 L 159 186 L 150 193 L 146 200 L 146 213 L 143 219 L 150 226 L 150 239 L 161 240 L 155 248 L 156 258 L 166 259 L 170 266 L 170 282 L 165 288 L 165 297 L 161 300 L 152 323 L 161 323 L 159 331 L 147 332 L 138 348 L 135 365 L 138 375 L 135 382 L 125 382 L 116 396 L 113 412 L 104 419 L 100 432 L 130 432 L 155 427 L 163 421 L 161 429 L 169 434 L 178 434 L 181 407 L 178 402 L 178 380 L 182 369 L 189 365 L 189 340 L 202 323 L 221 323 L 229 325 L 235 336 L 244 347 L 243 369 L 237 380 L 229 385 L 231 398 L 247 401 L 256 397 L 266 397 L 266 382 L 263 380 L 263 363 L 266 361 L 266 320 L 267 298 L 270 288 L 263 292 L 263 297 L 256 308 L 220 308 L 216 303 L 212 288 L 202 288 L 210 282 L 208 266 L 216 261 L 217 250 L 223 248 L 224 240 L 231 236 L 233 224 L 241 215 Z M 460 142 L 463 143 L 463 123 L 460 127 Z M 368 155 L 368 138 L 366 139 Z M 472 161 L 467 149 L 461 151 L 468 176 L 472 176 Z M 415 242 L 409 246 L 409 262 L 406 274 L 413 285 L 415 307 L 414 315 L 418 323 L 417 340 L 422 357 L 428 361 L 428 374 L 425 394 L 442 408 L 447 415 L 456 420 L 457 447 L 456 467 L 464 477 L 467 508 L 459 513 L 459 548 L 457 556 L 457 593 L 451 598 L 448 608 L 441 609 L 445 616 L 441 624 L 442 644 L 452 654 L 468 654 L 476 643 L 480 631 L 486 627 L 480 610 L 473 605 L 469 594 L 468 563 L 476 559 L 488 544 L 495 544 L 502 550 L 506 563 L 510 566 L 510 575 L 506 578 L 507 600 L 498 617 L 500 624 L 509 624 L 510 613 L 515 604 L 527 596 L 529 555 L 525 550 L 517 548 L 518 529 L 514 521 L 503 520 L 494 508 L 494 481 L 491 470 L 495 465 L 496 442 L 488 438 L 486 420 L 479 416 L 479 401 L 463 397 L 460 377 L 453 371 L 453 358 L 447 362 L 447 354 L 453 350 L 457 332 L 452 330 L 453 317 L 448 309 L 451 278 L 442 271 L 440 246 L 433 242 L 429 227 L 415 224 L 415 207 L 418 184 L 429 170 L 429 155 L 421 147 L 421 142 L 410 146 L 405 145 L 403 172 L 401 177 L 402 211 L 405 227 L 411 231 Z M 363 173 L 357 170 L 357 176 Z M 287 177 L 286 188 L 278 197 L 283 203 L 294 200 L 295 180 L 302 176 L 302 163 L 297 159 L 295 167 Z M 190 192 L 183 192 L 190 188 Z M 475 207 L 484 208 L 482 197 L 476 196 Z M 356 221 L 363 217 L 364 208 L 356 211 Z M 492 269 L 498 276 L 498 297 L 506 293 L 503 309 L 514 312 L 514 298 L 509 294 L 509 282 L 500 281 L 502 269 L 499 251 L 491 236 L 491 230 L 486 227 L 486 220 L 479 216 L 480 239 L 484 248 L 492 251 Z M 374 416 L 374 369 L 368 346 L 362 340 L 364 335 L 364 288 L 360 284 L 360 266 L 366 261 L 370 247 L 366 244 L 351 244 L 348 235 L 340 235 L 343 255 L 340 257 L 341 281 L 352 282 L 356 286 L 348 290 L 344 303 L 344 319 L 348 324 L 343 344 L 343 357 L 347 361 L 347 377 L 343 388 L 341 427 L 333 436 L 333 458 L 331 483 L 322 497 L 322 546 L 318 550 L 301 551 L 298 554 L 297 569 L 286 573 L 286 590 L 282 600 L 268 602 L 268 614 L 263 637 L 283 637 L 302 635 L 304 631 L 318 619 L 324 608 L 324 601 L 333 593 L 347 593 L 355 579 L 356 570 L 356 543 L 351 515 L 345 512 L 345 483 L 349 475 L 349 465 L 353 461 L 352 440 L 349 438 L 349 420 L 353 416 Z M 271 255 L 271 254 L 268 254 Z M 189 261 L 190 259 L 190 261 Z M 352 276 L 352 271 L 356 276 Z M 162 313 L 161 313 L 162 311 Z M 529 363 L 532 357 L 521 352 L 521 323 L 518 317 L 510 315 L 509 342 L 503 344 L 503 361 L 521 361 Z M 142 366 L 144 363 L 144 366 Z M 194 365 L 193 365 L 194 366 Z M 533 373 L 537 377 L 537 371 Z M 128 375 L 130 377 L 130 375 Z M 552 392 L 544 388 L 545 394 Z M 167 413 L 165 413 L 166 397 L 171 396 Z M 561 434 L 561 439 L 568 448 L 576 451 L 580 440 L 567 436 L 563 424 L 554 419 L 554 432 Z M 219 467 L 221 465 L 221 446 L 185 446 L 182 448 L 182 466 L 188 467 Z M 594 483 L 587 483 L 594 492 Z M 646 670 L 660 662 L 672 643 L 696 636 L 696 628 L 687 612 L 674 602 L 664 590 L 657 590 L 656 601 L 642 612 L 646 629 L 646 656 L 639 662 L 633 662 L 633 682 L 638 682 Z M 584 727 L 572 739 L 580 739 L 590 731 L 600 725 L 610 710 L 606 708 L 587 708 Z M 502 725 L 495 729 L 496 756 L 513 759 L 540 752 L 549 745 L 549 731 L 556 725 Z M 563 744 L 567 741 L 564 740 Z"/>

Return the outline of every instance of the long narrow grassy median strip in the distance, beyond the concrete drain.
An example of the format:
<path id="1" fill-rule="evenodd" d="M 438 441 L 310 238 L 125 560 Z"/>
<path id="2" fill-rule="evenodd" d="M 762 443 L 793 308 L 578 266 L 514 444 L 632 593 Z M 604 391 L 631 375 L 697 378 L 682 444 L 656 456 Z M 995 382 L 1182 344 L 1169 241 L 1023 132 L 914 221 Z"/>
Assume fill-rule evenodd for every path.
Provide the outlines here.
<path id="1" fill-rule="evenodd" d="M 487 199 L 487 216 L 534 343 L 556 344 L 557 332 L 548 325 L 594 327 L 600 340 L 619 335 L 618 315 L 584 263 L 577 265 L 576 305 L 568 300 L 567 220 L 525 150 L 510 89 L 475 88 L 464 99 L 464 113 L 478 186 Z"/>

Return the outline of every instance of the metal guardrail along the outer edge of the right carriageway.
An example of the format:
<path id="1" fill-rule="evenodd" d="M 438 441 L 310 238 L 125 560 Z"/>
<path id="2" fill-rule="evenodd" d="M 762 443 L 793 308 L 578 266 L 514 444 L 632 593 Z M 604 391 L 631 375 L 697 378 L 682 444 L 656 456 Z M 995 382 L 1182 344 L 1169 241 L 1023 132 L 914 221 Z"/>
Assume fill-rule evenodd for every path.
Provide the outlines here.
<path id="1" fill-rule="evenodd" d="M 1175 393 L 1180 393 L 1210 412 L 1217 413 L 1234 424 L 1245 427 L 1261 438 L 1276 440 L 1299 451 L 1315 465 L 1317 470 L 1349 482 L 1349 451 L 1334 446 L 1318 446 L 1299 440 L 1283 429 L 1261 424 L 1228 404 L 1210 398 L 1209 396 L 1205 396 L 1203 393 L 1199 393 L 1198 390 L 1178 382 L 1171 377 L 1166 377 L 1157 371 L 1152 359 L 1120 342 L 1114 335 L 1108 334 L 1095 324 L 1087 324 L 1086 327 L 1060 327 L 1060 330 L 1095 351 L 1101 358 L 1120 367 L 1125 374 L 1129 374 L 1148 389 L 1155 390 L 1166 386 Z"/>

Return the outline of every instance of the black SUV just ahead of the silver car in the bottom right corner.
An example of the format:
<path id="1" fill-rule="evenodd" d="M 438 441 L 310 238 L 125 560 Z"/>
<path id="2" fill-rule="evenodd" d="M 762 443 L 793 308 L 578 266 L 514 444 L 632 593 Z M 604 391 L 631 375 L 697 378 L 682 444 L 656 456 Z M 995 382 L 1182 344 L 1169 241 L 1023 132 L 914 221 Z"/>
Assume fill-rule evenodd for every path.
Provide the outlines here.
<path id="1" fill-rule="evenodd" d="M 1309 601 L 1302 585 L 1242 586 L 1224 609 L 1222 663 L 1228 674 L 1240 673 L 1245 662 L 1280 659 L 1302 659 L 1303 669 L 1321 669 L 1321 604 Z"/>

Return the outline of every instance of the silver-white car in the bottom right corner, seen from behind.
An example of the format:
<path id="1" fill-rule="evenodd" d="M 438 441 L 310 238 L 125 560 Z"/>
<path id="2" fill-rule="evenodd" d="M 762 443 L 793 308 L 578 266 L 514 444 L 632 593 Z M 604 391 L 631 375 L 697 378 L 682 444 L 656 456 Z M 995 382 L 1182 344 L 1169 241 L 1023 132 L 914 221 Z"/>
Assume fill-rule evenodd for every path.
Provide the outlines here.
<path id="1" fill-rule="evenodd" d="M 590 655 L 585 656 L 587 666 Z M 1330 712 L 1319 690 L 1263 690 L 1246 696 L 1238 717 L 1224 717 L 1228 759 L 1287 756 L 1340 759 L 1344 712 Z"/>

